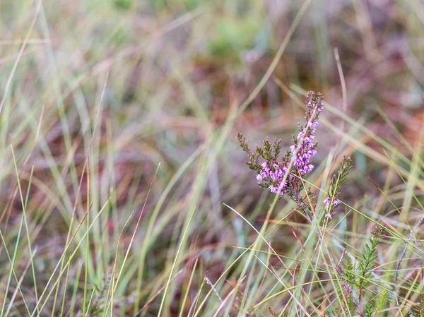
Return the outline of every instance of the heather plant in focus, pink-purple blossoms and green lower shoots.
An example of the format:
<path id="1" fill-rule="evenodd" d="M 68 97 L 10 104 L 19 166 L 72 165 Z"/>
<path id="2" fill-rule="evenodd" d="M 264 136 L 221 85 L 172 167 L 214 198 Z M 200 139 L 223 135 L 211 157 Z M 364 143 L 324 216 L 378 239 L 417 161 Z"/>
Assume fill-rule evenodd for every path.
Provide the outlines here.
<path id="1" fill-rule="evenodd" d="M 296 204 L 296 209 L 305 215 L 312 228 L 317 234 L 318 240 L 323 244 L 322 230 L 316 226 L 314 216 L 316 205 L 314 195 L 307 187 L 305 189 L 305 180 L 303 177 L 314 169 L 312 157 L 317 153 L 317 142 L 314 142 L 314 133 L 318 126 L 319 114 L 323 110 L 322 95 L 319 92 L 310 91 L 307 93 L 306 102 L 307 112 L 305 115 L 305 126 L 299 124 L 299 133 L 297 137 L 293 136 L 293 145 L 285 151 L 284 155 L 279 157 L 281 152 L 281 139 L 276 139 L 273 145 L 269 139 L 264 140 L 262 148 L 257 147 L 255 152 L 250 150 L 245 137 L 242 133 L 237 133 L 237 140 L 242 150 L 247 152 L 249 160 L 246 162 L 249 169 L 257 173 L 259 186 L 269 189 L 271 193 L 276 193 L 278 198 L 288 195 Z M 343 182 L 346 180 L 349 172 L 353 169 L 353 162 L 349 157 L 343 157 L 338 172 L 332 177 L 326 198 L 324 198 L 324 219 L 326 224 L 333 220 L 336 208 L 341 205 L 340 191 Z M 372 270 L 375 268 L 377 259 L 376 249 L 384 238 L 384 229 L 377 225 L 372 230 L 372 237 L 368 244 L 365 244 L 362 261 L 355 267 L 350 260 L 346 263 L 346 268 L 341 268 L 341 261 L 346 256 L 346 249 L 343 251 L 341 260 L 334 261 L 329 254 L 331 265 L 333 265 L 336 274 L 341 277 L 341 285 L 345 290 L 348 301 L 353 303 L 353 311 L 348 301 L 343 301 L 340 306 L 334 310 L 335 316 L 345 316 L 346 313 L 358 313 L 363 317 L 374 316 L 376 306 L 381 306 L 382 299 L 379 301 L 371 300 L 363 303 L 363 292 L 370 283 Z M 380 297 L 387 299 L 387 292 L 384 291 Z M 275 311 L 269 309 L 271 315 L 276 316 Z"/>

